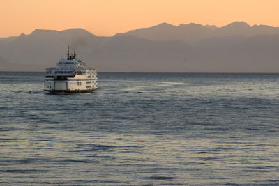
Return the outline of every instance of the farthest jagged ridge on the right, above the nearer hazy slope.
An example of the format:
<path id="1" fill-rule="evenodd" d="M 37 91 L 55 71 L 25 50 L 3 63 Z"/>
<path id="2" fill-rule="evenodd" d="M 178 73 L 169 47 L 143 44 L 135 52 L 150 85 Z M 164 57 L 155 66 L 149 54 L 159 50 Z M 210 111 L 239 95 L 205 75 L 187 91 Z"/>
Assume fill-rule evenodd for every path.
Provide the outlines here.
<path id="1" fill-rule="evenodd" d="M 265 25 L 250 26 L 246 22 L 233 22 L 227 26 L 218 28 L 214 25 L 202 26 L 201 24 L 158 24 L 145 29 L 119 33 L 118 35 L 131 35 L 149 40 L 183 40 L 187 43 L 199 42 L 200 40 L 225 37 L 225 36 L 255 36 L 259 34 L 279 34 L 279 28 Z"/>

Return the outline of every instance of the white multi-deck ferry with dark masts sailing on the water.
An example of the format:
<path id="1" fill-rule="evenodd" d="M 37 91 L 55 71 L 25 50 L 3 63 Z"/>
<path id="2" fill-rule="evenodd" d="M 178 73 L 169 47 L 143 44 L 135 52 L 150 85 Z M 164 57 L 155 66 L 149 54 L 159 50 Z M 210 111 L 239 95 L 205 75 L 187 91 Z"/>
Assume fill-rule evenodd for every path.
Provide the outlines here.
<path id="1" fill-rule="evenodd" d="M 67 59 L 61 59 L 56 67 L 45 70 L 44 90 L 50 93 L 91 92 L 98 88 L 97 71 L 86 67 L 76 54 L 67 52 Z"/>

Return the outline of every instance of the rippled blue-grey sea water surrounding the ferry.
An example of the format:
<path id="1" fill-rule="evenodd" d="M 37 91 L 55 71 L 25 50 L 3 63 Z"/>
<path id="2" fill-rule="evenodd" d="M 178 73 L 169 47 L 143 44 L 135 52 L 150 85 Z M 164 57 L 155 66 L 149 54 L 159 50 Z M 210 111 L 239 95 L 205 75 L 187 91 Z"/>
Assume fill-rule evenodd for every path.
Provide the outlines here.
<path id="1" fill-rule="evenodd" d="M 279 185 L 279 75 L 0 72 L 0 185 Z"/>

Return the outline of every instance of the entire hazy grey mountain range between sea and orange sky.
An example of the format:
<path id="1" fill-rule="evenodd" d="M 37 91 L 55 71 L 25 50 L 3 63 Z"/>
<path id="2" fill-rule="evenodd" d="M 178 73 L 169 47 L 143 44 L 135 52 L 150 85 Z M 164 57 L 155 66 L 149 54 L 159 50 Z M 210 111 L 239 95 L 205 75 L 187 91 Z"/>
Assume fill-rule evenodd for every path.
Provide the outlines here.
<path id="1" fill-rule="evenodd" d="M 0 71 L 43 71 L 66 55 L 67 45 L 101 72 L 279 72 L 279 28 L 245 22 L 162 23 L 111 37 L 36 29 L 0 38 Z"/>

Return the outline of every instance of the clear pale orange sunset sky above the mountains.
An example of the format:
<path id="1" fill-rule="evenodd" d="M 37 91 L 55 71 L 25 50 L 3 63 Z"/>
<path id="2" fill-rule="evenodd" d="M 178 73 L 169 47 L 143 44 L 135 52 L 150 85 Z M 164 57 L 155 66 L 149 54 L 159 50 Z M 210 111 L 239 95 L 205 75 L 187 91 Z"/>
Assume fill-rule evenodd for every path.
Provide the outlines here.
<path id="1" fill-rule="evenodd" d="M 0 0 L 0 38 L 82 28 L 113 36 L 162 22 L 279 27 L 278 0 Z"/>

